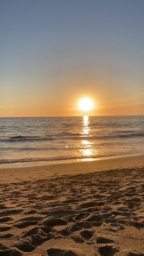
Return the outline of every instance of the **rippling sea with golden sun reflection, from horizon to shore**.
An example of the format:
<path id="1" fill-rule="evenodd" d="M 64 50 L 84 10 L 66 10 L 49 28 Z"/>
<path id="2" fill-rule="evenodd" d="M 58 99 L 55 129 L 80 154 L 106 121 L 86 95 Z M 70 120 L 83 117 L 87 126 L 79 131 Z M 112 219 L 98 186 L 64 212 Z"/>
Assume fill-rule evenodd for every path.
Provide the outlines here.
<path id="1" fill-rule="evenodd" d="M 144 116 L 0 118 L 0 168 L 144 153 Z"/>

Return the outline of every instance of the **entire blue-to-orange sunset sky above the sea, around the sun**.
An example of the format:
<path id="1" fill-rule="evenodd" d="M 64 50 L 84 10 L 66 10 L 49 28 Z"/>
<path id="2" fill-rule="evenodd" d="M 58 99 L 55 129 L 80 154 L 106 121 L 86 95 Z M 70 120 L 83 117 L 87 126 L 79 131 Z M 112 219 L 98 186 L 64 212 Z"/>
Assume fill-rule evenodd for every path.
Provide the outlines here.
<path id="1" fill-rule="evenodd" d="M 143 13 L 143 0 L 1 0 L 0 117 L 143 115 Z"/>

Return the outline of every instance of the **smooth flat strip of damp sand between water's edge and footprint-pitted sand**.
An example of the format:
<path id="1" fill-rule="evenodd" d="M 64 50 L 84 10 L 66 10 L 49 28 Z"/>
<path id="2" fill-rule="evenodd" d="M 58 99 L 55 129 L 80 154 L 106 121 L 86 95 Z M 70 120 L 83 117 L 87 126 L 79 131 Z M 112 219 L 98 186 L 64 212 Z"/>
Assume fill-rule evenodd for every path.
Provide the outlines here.
<path id="1" fill-rule="evenodd" d="M 33 165 L 26 167 L 9 167 L 0 169 L 0 179 L 8 178 L 9 174 L 11 180 L 15 179 L 17 173 L 26 178 L 32 171 L 33 177 L 39 177 L 39 171 L 41 175 L 53 176 L 53 175 L 72 175 L 86 172 L 113 170 L 118 168 L 130 168 L 132 166 L 144 166 L 144 155 L 125 155 L 118 157 L 105 157 L 94 159 L 94 161 L 79 161 L 70 163 L 58 163 L 58 164 L 45 164 L 45 165 Z M 88 168 L 88 169 L 87 169 Z"/>

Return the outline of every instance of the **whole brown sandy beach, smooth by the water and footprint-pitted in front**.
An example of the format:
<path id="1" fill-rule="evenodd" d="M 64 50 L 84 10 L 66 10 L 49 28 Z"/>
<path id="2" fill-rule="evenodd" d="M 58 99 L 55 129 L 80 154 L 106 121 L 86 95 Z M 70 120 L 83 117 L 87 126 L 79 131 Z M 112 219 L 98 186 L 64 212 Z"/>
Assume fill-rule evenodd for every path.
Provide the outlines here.
<path id="1" fill-rule="evenodd" d="M 144 255 L 144 156 L 0 169 L 0 256 Z"/>

